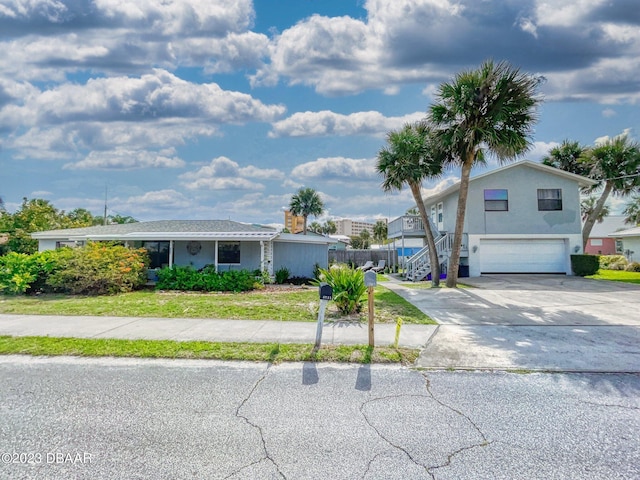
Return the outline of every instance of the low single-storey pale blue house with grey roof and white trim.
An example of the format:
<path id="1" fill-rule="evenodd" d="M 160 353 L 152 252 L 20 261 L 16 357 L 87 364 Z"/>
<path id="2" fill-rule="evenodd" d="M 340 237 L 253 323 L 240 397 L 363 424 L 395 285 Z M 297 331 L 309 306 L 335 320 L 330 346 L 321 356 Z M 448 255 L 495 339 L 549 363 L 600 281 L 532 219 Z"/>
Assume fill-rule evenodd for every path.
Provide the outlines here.
<path id="1" fill-rule="evenodd" d="M 219 271 L 261 270 L 273 275 L 286 267 L 291 276 L 312 277 L 316 265 L 327 268 L 329 246 L 323 236 L 281 233 L 260 225 L 227 220 L 168 220 L 33 233 L 38 249 L 53 250 L 87 241 L 122 241 L 149 251 L 150 268 L 215 265 Z"/>

